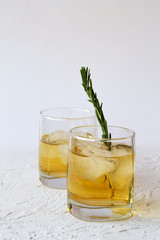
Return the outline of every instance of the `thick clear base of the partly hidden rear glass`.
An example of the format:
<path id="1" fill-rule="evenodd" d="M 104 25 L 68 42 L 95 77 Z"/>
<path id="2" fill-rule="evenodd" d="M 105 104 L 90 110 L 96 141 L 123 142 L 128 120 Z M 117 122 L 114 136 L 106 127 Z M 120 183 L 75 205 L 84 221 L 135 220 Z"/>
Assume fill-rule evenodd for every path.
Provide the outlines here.
<path id="1" fill-rule="evenodd" d="M 55 188 L 55 189 L 67 189 L 67 178 L 65 177 L 52 177 L 49 175 L 46 175 L 42 172 L 39 173 L 39 180 L 41 183 L 49 188 Z"/>

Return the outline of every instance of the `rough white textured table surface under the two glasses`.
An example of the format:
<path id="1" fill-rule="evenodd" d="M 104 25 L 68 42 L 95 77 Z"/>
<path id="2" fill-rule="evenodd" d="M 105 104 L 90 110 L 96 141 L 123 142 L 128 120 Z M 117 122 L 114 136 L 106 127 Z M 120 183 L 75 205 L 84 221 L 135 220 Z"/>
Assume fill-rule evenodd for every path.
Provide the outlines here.
<path id="1" fill-rule="evenodd" d="M 0 240 L 160 239 L 160 147 L 137 148 L 134 216 L 91 223 L 71 216 L 66 191 L 43 186 L 37 153 L 0 151 Z"/>

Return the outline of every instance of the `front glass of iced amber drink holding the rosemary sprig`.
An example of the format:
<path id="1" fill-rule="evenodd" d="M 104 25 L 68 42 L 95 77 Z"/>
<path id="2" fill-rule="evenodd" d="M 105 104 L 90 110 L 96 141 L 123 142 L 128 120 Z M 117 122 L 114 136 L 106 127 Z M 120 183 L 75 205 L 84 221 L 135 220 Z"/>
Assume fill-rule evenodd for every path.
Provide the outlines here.
<path id="1" fill-rule="evenodd" d="M 135 133 L 109 126 L 111 139 L 101 127 L 70 131 L 67 208 L 86 221 L 119 220 L 132 215 Z"/>

